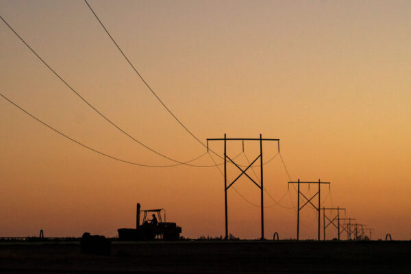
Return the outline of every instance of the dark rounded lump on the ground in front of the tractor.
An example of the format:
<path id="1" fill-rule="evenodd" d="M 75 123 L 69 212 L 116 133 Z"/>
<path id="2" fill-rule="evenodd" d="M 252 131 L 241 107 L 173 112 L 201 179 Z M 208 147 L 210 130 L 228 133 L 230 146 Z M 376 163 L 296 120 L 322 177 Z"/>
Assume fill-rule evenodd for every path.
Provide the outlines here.
<path id="1" fill-rule="evenodd" d="M 80 247 L 83 254 L 93 255 L 110 255 L 111 242 L 108 238 L 100 235 L 90 235 L 85 232 L 80 241 Z"/>

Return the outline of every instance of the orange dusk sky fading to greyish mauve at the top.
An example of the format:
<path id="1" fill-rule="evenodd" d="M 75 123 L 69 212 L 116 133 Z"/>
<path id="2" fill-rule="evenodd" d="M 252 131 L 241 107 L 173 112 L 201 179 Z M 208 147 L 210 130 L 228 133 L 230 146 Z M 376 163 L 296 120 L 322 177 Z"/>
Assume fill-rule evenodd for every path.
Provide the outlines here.
<path id="1" fill-rule="evenodd" d="M 153 90 L 201 140 L 281 139 L 293 180 L 331 182 L 325 206 L 411 238 L 410 1 L 96 1 L 90 5 Z M 83 1 L 5 1 L 0 15 L 88 101 L 145 144 L 178 160 L 206 152 L 142 84 Z M 101 119 L 0 22 L 0 90 L 65 134 L 119 158 L 164 160 Z M 103 158 L 0 98 L 0 236 L 116 236 L 136 202 L 165 208 L 186 237 L 224 234 L 216 168 L 150 169 Z M 212 149 L 223 153 L 221 143 Z M 246 143 L 249 158 L 256 144 Z M 229 144 L 229 155 L 241 144 Z M 277 152 L 264 143 L 264 159 Z M 216 162 L 221 159 L 214 156 Z M 244 156 L 238 162 L 246 164 Z M 197 164 L 212 164 L 208 155 Z M 258 169 L 256 169 L 258 173 Z M 238 173 L 232 166 L 229 178 Z M 253 175 L 253 173 L 249 173 Z M 264 185 L 297 201 L 279 157 Z M 246 179 L 236 189 L 259 203 Z M 314 194 L 315 186 L 304 192 Z M 289 191 L 289 192 L 287 192 Z M 265 195 L 266 206 L 273 201 Z M 229 231 L 260 236 L 259 208 L 229 190 Z M 295 237 L 296 212 L 265 210 L 266 237 Z M 316 214 L 301 212 L 301 237 Z M 336 233 L 329 229 L 327 237 Z"/>

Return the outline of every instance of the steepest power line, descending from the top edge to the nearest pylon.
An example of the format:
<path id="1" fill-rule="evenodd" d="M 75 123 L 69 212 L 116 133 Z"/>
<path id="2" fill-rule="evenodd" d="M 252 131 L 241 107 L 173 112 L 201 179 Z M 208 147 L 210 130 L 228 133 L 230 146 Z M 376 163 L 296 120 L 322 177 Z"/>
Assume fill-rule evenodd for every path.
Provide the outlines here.
<path id="1" fill-rule="evenodd" d="M 199 140 L 199 138 L 197 138 L 197 136 L 195 136 L 195 134 L 193 134 L 190 129 L 188 129 L 186 127 L 186 125 L 184 125 L 184 123 L 182 123 L 182 121 L 180 121 L 177 116 L 175 116 L 175 114 L 166 106 L 166 104 L 162 101 L 162 99 L 160 99 L 160 97 L 158 97 L 158 95 L 154 92 L 153 88 L 151 88 L 151 86 L 149 86 L 149 84 L 147 83 L 147 81 L 142 77 L 142 75 L 137 71 L 136 67 L 132 64 L 132 62 L 130 62 L 129 58 L 127 58 L 127 56 L 125 55 L 125 53 L 123 52 L 123 50 L 121 49 L 121 47 L 119 46 L 119 44 L 117 44 L 117 42 L 114 40 L 114 38 L 112 37 L 112 35 L 110 34 L 110 32 L 108 32 L 108 30 L 105 28 L 105 26 L 103 25 L 103 22 L 101 22 L 99 16 L 97 16 L 97 14 L 95 13 L 95 11 L 91 8 L 90 4 L 88 4 L 87 0 L 84 0 L 84 2 L 86 2 L 86 4 L 88 5 L 88 8 L 90 8 L 92 14 L 94 14 L 95 18 L 97 19 L 97 21 L 99 21 L 101 27 L 103 27 L 105 33 L 110 37 L 110 39 L 112 40 L 112 42 L 114 43 L 114 45 L 116 45 L 117 49 L 119 49 L 121 55 L 123 55 L 123 57 L 125 58 L 125 60 L 129 63 L 130 66 L 132 66 L 132 69 L 134 70 L 134 72 L 138 75 L 138 77 L 140 77 L 141 81 L 145 84 L 145 86 L 147 86 L 147 88 L 149 88 L 149 90 L 151 91 L 151 93 L 153 93 L 153 95 L 155 96 L 155 98 L 162 104 L 162 106 L 167 110 L 167 112 L 169 112 L 169 114 L 171 114 L 171 116 L 173 116 L 173 118 L 175 119 L 175 121 L 177 121 L 177 123 L 179 123 L 179 125 L 181 125 L 186 132 L 188 132 L 188 134 L 190 134 L 193 138 L 195 138 L 195 140 L 197 140 L 197 142 L 199 142 L 201 145 L 203 145 L 203 147 L 207 147 L 206 144 L 204 144 L 203 142 L 201 142 L 201 140 Z M 221 155 L 215 153 L 214 151 L 212 151 L 211 149 L 209 149 L 212 153 L 214 153 L 215 155 L 219 156 L 219 158 L 223 159 L 223 157 L 221 157 Z"/>

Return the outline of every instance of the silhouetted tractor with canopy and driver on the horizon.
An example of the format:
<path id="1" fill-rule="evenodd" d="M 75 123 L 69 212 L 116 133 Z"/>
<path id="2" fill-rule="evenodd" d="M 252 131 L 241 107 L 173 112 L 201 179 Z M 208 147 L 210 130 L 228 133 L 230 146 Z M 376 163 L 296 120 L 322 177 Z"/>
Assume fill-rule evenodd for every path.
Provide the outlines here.
<path id="1" fill-rule="evenodd" d="M 142 224 L 140 225 L 140 212 L 144 212 Z M 157 215 L 158 222 L 149 222 L 147 214 L 153 213 Z M 162 220 L 164 215 L 164 222 Z M 166 222 L 166 212 L 163 208 L 155 210 L 140 210 L 140 203 L 137 203 L 136 228 L 120 228 L 119 240 L 127 241 L 147 241 L 155 240 L 179 240 L 179 235 L 182 233 L 182 227 L 176 223 Z"/>

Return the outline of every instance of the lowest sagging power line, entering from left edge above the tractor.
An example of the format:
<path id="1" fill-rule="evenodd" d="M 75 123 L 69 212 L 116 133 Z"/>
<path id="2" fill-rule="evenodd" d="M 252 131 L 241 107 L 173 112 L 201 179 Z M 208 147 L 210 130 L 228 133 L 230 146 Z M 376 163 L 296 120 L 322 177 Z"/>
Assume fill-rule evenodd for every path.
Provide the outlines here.
<path id="1" fill-rule="evenodd" d="M 74 138 L 71 138 L 70 136 L 68 136 L 68 135 L 60 132 L 58 129 L 55 129 L 54 127 L 51 127 L 51 125 L 48 125 L 47 123 L 41 121 L 41 120 L 38 119 L 36 116 L 34 116 L 33 114 L 29 113 L 27 110 L 21 108 L 20 105 L 17 105 L 16 103 L 14 103 L 12 100 L 8 99 L 7 97 L 5 97 L 4 95 L 2 95 L 1 93 L 0 93 L 0 96 L 3 97 L 6 101 L 8 101 L 9 103 L 11 103 L 12 105 L 14 105 L 14 106 L 15 106 L 16 108 L 18 108 L 19 110 L 25 112 L 25 114 L 29 115 L 29 116 L 32 117 L 34 120 L 38 121 L 38 122 L 41 123 L 42 125 L 45 125 L 45 126 L 48 127 L 49 129 L 53 130 L 53 132 L 55 132 L 55 133 L 57 133 L 57 134 L 60 134 L 61 136 L 65 137 L 65 138 L 67 138 L 67 139 L 69 139 L 69 140 L 71 140 L 72 142 L 75 142 L 77 145 L 80 145 L 80 146 L 82 146 L 82 147 L 85 147 L 86 149 L 89 149 L 90 151 L 93 151 L 93 152 L 95 152 L 95 153 L 99 153 L 100 155 L 103 155 L 103 156 L 105 156 L 105 157 L 111 158 L 111 159 L 113 159 L 113 160 L 117 160 L 117 161 L 119 161 L 119 162 L 124 162 L 124 163 L 126 163 L 126 164 L 134 164 L 134 165 L 136 165 L 136 166 L 146 166 L 146 167 L 172 167 L 172 166 L 179 166 L 179 164 L 171 164 L 171 165 L 166 165 L 166 166 L 155 166 L 155 165 L 150 165 L 150 164 L 140 164 L 140 163 L 137 163 L 137 162 L 131 162 L 131 161 L 123 160 L 123 159 L 121 159 L 121 158 L 116 158 L 116 157 L 114 157 L 114 156 L 112 156 L 112 155 L 109 155 L 109 154 L 107 154 L 107 153 L 98 151 L 97 149 L 93 149 L 92 147 L 89 147 L 88 145 L 84 145 L 82 142 L 79 142 L 79 141 L 75 140 Z M 193 159 L 193 160 L 190 160 L 189 162 L 192 162 L 192 161 L 194 161 L 194 160 L 197 160 L 197 159 L 203 157 L 203 155 L 206 155 L 206 154 L 207 154 L 207 152 L 206 152 L 206 153 L 203 153 L 202 155 L 199 155 L 197 158 L 195 158 L 195 159 Z M 192 166 L 195 166 L 195 165 L 192 165 Z M 214 166 L 214 165 L 212 165 L 212 166 Z M 197 167 L 203 167 L 203 166 L 197 166 Z M 210 167 L 211 167 L 211 166 L 210 166 Z"/>

